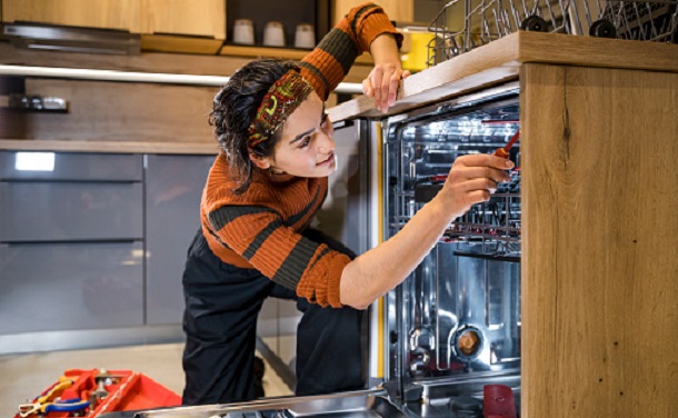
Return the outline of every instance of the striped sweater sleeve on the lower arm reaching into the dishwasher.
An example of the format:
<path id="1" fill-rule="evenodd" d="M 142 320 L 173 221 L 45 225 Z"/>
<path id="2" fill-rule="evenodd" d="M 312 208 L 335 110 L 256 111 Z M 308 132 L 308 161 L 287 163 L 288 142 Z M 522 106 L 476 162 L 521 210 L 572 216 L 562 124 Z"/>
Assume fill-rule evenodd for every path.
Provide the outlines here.
<path id="1" fill-rule="evenodd" d="M 222 206 L 208 218 L 219 240 L 266 277 L 311 302 L 341 307 L 339 281 L 348 256 L 285 226 L 270 208 Z"/>

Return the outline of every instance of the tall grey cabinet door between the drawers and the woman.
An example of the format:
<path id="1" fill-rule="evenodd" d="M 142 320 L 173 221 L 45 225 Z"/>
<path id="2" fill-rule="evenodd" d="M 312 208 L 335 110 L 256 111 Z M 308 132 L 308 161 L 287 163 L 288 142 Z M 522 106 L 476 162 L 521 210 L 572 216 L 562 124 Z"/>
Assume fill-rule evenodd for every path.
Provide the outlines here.
<path id="1" fill-rule="evenodd" d="M 179 324 L 181 276 L 200 228 L 200 197 L 213 156 L 148 156 L 146 171 L 147 324 Z"/>

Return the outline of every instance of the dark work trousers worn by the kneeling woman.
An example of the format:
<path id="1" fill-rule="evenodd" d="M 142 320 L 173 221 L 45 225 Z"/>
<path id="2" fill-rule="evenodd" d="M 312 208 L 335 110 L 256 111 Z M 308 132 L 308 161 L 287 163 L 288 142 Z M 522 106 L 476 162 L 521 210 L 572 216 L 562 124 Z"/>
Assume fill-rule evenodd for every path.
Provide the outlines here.
<path id="1" fill-rule="evenodd" d="M 321 232 L 308 230 L 305 236 L 355 257 Z M 183 295 L 183 405 L 255 399 L 257 317 L 268 297 L 296 299 L 302 312 L 297 330 L 297 395 L 363 388 L 363 311 L 321 308 L 258 270 L 227 265 L 211 252 L 201 231 L 189 248 Z"/>

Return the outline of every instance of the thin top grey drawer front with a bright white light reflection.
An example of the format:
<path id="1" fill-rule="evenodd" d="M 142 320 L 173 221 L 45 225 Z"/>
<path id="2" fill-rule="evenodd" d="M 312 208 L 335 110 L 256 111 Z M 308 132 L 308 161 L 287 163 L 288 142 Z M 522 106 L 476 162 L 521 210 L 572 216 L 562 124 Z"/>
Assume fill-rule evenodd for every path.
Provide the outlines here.
<path id="1" fill-rule="evenodd" d="M 0 180 L 141 181 L 141 155 L 0 151 Z"/>

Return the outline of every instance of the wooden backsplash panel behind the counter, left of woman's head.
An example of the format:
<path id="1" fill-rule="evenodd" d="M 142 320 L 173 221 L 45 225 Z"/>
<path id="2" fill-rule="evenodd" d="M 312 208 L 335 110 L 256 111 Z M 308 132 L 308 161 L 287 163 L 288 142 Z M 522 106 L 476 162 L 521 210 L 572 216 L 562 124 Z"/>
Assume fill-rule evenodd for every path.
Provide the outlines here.
<path id="1" fill-rule="evenodd" d="M 217 87 L 27 79 L 28 94 L 62 97 L 68 113 L 18 113 L 13 138 L 213 143 Z M 13 113 L 12 113 L 13 115 Z M 11 120 L 8 115 L 7 119 Z M 14 118 L 19 119 L 19 118 Z M 6 119 L 0 119 L 2 122 Z"/>

